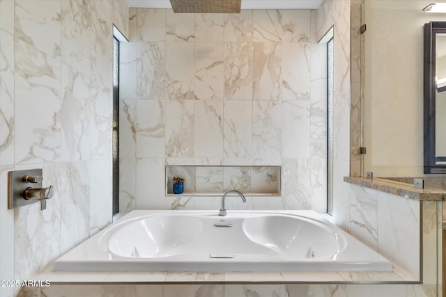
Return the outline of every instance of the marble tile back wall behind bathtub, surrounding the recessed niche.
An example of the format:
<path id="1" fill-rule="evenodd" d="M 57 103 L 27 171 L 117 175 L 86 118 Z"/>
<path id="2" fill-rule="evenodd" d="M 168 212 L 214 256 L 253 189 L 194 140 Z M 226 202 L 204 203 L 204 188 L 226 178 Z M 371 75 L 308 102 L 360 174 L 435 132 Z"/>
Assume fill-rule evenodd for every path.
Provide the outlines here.
<path id="1" fill-rule="evenodd" d="M 215 197 L 164 197 L 164 166 L 206 165 L 282 166 L 282 197 L 253 197 L 249 208 L 325 212 L 316 12 L 130 8 L 129 15 L 130 42 L 121 47 L 121 211 L 215 208 Z"/>

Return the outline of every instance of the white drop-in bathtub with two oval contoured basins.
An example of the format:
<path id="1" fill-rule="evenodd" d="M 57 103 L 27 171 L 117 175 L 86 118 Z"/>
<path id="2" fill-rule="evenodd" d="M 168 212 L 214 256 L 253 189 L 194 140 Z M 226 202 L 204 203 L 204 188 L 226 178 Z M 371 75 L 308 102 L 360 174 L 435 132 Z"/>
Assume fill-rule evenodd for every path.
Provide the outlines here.
<path id="1" fill-rule="evenodd" d="M 391 271 L 314 211 L 132 211 L 53 271 Z"/>

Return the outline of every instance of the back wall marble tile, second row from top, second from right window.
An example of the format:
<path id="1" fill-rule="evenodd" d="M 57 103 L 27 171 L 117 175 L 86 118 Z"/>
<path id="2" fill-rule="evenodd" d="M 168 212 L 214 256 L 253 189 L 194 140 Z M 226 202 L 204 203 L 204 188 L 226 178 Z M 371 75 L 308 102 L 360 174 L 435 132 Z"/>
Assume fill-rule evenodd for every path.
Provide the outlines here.
<path id="1" fill-rule="evenodd" d="M 299 71 L 296 71 L 299 70 Z M 282 100 L 307 100 L 310 92 L 310 43 L 282 43 Z"/>

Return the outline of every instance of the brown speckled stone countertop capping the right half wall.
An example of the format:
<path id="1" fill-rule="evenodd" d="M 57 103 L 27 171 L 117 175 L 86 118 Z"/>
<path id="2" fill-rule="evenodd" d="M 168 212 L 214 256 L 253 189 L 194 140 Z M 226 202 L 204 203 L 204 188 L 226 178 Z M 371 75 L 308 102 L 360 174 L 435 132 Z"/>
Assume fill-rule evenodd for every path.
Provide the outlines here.
<path id="1" fill-rule="evenodd" d="M 441 188 L 415 188 L 413 184 L 397 182 L 392 179 L 375 177 L 367 179 L 365 177 L 344 177 L 344 182 L 374 188 L 375 190 L 391 193 L 404 198 L 420 201 L 443 201 L 446 200 L 446 190 Z"/>

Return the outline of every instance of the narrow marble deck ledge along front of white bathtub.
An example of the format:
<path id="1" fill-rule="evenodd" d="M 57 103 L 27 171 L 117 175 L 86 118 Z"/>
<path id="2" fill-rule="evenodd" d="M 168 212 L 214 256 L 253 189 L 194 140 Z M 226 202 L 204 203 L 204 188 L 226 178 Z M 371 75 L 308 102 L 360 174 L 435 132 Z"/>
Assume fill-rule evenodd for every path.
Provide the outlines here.
<path id="1" fill-rule="evenodd" d="M 393 265 L 391 272 L 61 272 L 52 265 L 33 280 L 51 284 L 418 284 L 417 278 Z"/>

